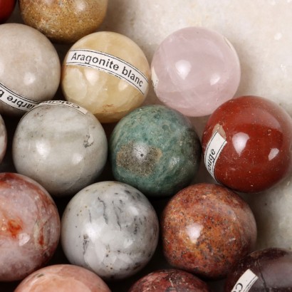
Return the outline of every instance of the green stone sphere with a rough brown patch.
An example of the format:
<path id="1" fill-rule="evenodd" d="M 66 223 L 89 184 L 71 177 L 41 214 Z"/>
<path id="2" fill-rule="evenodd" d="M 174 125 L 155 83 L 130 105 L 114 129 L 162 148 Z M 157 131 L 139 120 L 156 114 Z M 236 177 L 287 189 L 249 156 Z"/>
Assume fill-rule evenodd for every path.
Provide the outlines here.
<path id="1" fill-rule="evenodd" d="M 115 179 L 147 196 L 172 196 L 192 182 L 201 145 L 192 123 L 176 110 L 147 105 L 126 115 L 110 137 Z"/>

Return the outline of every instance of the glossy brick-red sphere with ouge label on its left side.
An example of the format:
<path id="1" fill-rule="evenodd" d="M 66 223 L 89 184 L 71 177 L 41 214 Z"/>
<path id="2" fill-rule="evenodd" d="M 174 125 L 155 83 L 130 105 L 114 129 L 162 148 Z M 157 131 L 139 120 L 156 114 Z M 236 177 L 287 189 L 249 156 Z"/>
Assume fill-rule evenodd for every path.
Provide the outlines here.
<path id="1" fill-rule="evenodd" d="M 276 103 L 241 96 L 210 116 L 202 136 L 214 179 L 239 192 L 261 192 L 291 169 L 292 120 Z"/>

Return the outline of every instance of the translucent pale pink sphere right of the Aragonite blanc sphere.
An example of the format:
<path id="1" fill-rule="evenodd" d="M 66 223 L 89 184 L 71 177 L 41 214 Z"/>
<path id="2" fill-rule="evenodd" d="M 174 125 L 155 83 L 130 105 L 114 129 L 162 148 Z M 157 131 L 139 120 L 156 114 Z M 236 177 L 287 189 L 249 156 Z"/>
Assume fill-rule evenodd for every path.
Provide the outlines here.
<path id="1" fill-rule="evenodd" d="M 167 36 L 151 63 L 157 97 L 190 117 L 209 115 L 239 87 L 239 57 L 220 33 L 188 27 Z"/>

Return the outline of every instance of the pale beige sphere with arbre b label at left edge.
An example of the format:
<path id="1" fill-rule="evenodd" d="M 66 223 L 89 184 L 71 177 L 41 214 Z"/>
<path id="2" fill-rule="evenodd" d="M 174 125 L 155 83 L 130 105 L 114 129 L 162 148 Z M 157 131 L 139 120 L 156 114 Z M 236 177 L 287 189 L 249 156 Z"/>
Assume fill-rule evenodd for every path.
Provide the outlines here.
<path id="1" fill-rule="evenodd" d="M 1 24 L 0 39 L 0 113 L 21 116 L 54 97 L 60 59 L 43 33 L 24 24 Z"/>

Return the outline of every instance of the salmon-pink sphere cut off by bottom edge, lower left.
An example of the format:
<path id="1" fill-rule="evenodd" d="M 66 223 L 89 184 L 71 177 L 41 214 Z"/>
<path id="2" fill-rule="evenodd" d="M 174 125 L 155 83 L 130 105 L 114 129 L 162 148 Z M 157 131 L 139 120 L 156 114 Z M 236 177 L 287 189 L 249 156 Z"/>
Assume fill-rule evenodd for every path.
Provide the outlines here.
<path id="1" fill-rule="evenodd" d="M 28 277 L 14 292 L 110 292 L 108 285 L 95 273 L 68 264 L 46 266 Z"/>

